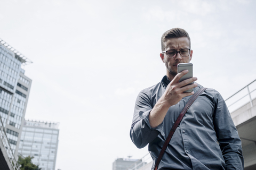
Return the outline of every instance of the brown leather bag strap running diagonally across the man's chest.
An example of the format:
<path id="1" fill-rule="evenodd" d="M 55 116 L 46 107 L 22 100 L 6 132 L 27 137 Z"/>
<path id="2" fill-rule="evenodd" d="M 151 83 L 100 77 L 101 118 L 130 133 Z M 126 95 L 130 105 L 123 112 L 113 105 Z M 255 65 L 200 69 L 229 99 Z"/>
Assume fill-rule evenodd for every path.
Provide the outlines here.
<path id="1" fill-rule="evenodd" d="M 177 129 L 178 125 L 180 124 L 182 118 L 185 116 L 186 112 L 188 111 L 189 107 L 194 103 L 194 101 L 196 100 L 196 98 L 202 94 L 202 92 L 204 92 L 207 88 L 202 88 L 200 90 L 198 90 L 189 100 L 188 100 L 188 103 L 186 104 L 186 106 L 182 109 L 179 117 L 177 118 L 177 120 L 175 121 L 174 125 L 172 126 L 172 129 L 168 135 L 168 137 L 166 138 L 166 141 L 164 142 L 164 146 L 162 148 L 162 150 L 160 151 L 160 154 L 156 160 L 156 165 L 155 165 L 155 168 L 154 170 L 157 170 L 158 168 L 158 165 L 164 155 L 164 152 L 172 138 L 172 135 L 173 133 L 175 132 L 175 130 Z"/>

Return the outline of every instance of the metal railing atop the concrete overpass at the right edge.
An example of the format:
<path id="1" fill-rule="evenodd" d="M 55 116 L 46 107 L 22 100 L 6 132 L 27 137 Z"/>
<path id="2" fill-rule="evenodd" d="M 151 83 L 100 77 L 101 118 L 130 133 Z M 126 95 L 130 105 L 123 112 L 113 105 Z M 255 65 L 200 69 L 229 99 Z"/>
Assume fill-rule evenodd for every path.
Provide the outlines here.
<path id="1" fill-rule="evenodd" d="M 256 97 L 256 79 L 247 84 L 244 88 L 237 91 L 234 95 L 227 98 L 225 101 L 230 112 L 236 111 L 236 109 L 250 103 L 253 107 L 253 99 Z"/>

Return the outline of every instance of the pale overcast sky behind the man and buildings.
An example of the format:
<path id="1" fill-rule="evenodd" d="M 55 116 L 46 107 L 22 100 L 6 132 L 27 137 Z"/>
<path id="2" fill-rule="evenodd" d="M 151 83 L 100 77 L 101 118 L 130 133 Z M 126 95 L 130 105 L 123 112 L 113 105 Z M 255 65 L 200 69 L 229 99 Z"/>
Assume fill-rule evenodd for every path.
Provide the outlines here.
<path id="1" fill-rule="evenodd" d="M 129 133 L 138 93 L 166 73 L 166 30 L 189 33 L 197 83 L 224 99 L 256 79 L 253 0 L 0 4 L 0 38 L 33 62 L 25 118 L 60 123 L 56 170 L 111 170 L 148 153 Z"/>

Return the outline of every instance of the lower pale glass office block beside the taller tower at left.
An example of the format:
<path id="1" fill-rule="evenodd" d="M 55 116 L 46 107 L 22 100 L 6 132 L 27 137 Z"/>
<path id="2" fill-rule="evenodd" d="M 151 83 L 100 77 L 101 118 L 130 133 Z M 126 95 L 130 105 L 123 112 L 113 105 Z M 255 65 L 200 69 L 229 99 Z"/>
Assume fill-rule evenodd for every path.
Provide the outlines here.
<path id="1" fill-rule="evenodd" d="M 42 170 L 55 170 L 59 143 L 59 123 L 25 121 L 21 133 L 19 154 L 33 156 L 33 164 Z"/>

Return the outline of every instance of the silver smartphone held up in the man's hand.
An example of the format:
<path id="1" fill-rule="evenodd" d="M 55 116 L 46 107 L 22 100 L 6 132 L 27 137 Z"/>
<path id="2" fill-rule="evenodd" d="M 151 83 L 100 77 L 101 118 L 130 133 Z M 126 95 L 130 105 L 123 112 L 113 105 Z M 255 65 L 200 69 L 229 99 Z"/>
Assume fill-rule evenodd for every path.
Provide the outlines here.
<path id="1" fill-rule="evenodd" d="M 183 75 L 180 78 L 179 82 L 181 82 L 183 80 L 186 80 L 186 79 L 189 79 L 189 78 L 193 78 L 193 64 L 192 63 L 180 63 L 180 64 L 178 64 L 177 72 L 180 73 L 183 70 L 188 70 L 188 73 Z M 192 83 L 190 83 L 190 84 L 192 84 Z M 192 91 L 193 91 L 193 88 L 189 89 L 189 90 L 186 90 L 184 92 L 192 92 Z"/>

